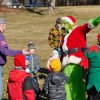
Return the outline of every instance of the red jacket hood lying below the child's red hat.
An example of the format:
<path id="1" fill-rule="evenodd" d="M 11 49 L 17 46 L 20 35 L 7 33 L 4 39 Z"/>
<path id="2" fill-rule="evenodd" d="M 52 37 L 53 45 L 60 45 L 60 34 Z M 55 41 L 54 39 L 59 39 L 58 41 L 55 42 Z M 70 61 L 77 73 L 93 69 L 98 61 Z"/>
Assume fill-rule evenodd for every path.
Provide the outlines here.
<path id="1" fill-rule="evenodd" d="M 23 70 L 12 70 L 9 73 L 9 81 L 10 82 L 22 81 L 27 76 L 30 76 L 30 74 L 26 73 Z"/>

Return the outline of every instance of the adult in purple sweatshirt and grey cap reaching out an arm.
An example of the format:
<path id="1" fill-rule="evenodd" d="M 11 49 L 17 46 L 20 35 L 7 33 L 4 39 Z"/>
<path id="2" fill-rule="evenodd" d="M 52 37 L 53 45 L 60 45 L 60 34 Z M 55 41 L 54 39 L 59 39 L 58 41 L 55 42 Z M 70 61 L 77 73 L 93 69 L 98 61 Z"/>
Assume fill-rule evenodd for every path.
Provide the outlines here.
<path id="1" fill-rule="evenodd" d="M 29 54 L 25 50 L 11 50 L 8 47 L 7 41 L 4 36 L 4 31 L 6 29 L 6 22 L 3 18 L 0 18 L 0 100 L 2 99 L 2 66 L 6 64 L 7 56 L 15 56 L 16 54 Z"/>

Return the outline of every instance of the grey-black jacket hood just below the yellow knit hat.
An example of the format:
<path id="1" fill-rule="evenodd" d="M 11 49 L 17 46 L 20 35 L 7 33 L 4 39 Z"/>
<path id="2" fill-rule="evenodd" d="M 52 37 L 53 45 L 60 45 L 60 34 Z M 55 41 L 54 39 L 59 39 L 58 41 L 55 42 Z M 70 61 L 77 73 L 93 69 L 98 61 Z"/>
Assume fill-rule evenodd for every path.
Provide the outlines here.
<path id="1" fill-rule="evenodd" d="M 50 80 L 53 85 L 57 86 L 64 85 L 67 81 L 63 73 L 52 73 Z"/>

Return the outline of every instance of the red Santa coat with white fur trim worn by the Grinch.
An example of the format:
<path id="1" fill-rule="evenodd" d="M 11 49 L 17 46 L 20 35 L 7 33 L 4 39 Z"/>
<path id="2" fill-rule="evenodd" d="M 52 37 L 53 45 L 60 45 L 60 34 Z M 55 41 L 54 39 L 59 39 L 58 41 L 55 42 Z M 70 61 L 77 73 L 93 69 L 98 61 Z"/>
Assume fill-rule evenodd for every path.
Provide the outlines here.
<path id="1" fill-rule="evenodd" d="M 65 66 L 68 63 L 79 64 L 84 57 L 84 52 L 81 48 L 86 48 L 86 33 L 91 30 L 89 23 L 82 26 L 75 27 L 69 34 L 64 37 L 63 51 L 71 50 L 73 48 L 78 48 L 77 52 L 68 54 L 63 57 L 62 65 Z"/>

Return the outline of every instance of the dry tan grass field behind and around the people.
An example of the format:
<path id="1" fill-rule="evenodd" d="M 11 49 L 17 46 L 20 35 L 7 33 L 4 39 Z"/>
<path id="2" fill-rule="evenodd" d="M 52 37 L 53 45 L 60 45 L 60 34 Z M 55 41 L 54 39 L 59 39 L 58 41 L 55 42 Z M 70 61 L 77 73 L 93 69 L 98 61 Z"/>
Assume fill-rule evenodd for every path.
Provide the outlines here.
<path id="1" fill-rule="evenodd" d="M 48 8 L 39 8 L 41 12 L 28 12 L 25 10 L 14 12 L 0 12 L 0 17 L 7 20 L 7 29 L 5 31 L 6 39 L 11 49 L 27 48 L 27 43 L 33 41 L 37 47 L 37 54 L 41 59 L 41 66 L 46 67 L 52 49 L 48 45 L 48 32 L 54 25 L 58 17 L 72 15 L 79 25 L 87 22 L 90 18 L 100 16 L 99 6 L 78 6 L 78 7 L 59 7 L 56 8 L 55 15 L 48 15 Z M 96 35 L 99 33 L 99 27 L 92 30 L 87 35 L 90 45 L 96 43 Z M 7 98 L 6 84 L 8 73 L 13 68 L 13 58 L 8 57 L 8 63 L 3 68 L 4 94 L 3 98 Z M 42 81 L 40 80 L 40 86 Z"/>

